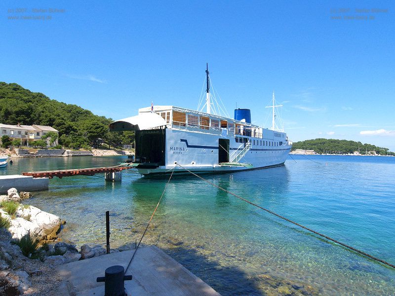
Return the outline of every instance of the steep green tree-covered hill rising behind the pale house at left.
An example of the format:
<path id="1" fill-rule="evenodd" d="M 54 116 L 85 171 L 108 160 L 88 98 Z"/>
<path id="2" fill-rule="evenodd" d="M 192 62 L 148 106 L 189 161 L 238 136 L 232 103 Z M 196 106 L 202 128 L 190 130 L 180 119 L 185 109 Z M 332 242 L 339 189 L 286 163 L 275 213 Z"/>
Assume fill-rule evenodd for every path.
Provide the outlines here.
<path id="1" fill-rule="evenodd" d="M 16 83 L 0 82 L 0 123 L 49 125 L 59 131 L 59 144 L 69 148 L 95 146 L 97 139 L 111 145 L 130 144 L 133 132 L 110 133 L 111 118 L 77 105 L 51 100 Z"/>

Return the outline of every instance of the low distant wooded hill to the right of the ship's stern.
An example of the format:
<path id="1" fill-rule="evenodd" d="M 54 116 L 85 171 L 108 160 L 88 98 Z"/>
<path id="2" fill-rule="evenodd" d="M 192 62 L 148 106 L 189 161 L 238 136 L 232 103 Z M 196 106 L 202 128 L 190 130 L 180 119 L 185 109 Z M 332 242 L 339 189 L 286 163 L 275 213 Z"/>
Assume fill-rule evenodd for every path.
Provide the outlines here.
<path id="1" fill-rule="evenodd" d="M 388 148 L 377 147 L 371 144 L 362 144 L 361 142 L 348 141 L 348 140 L 336 140 L 336 139 L 314 139 L 305 140 L 300 142 L 294 142 L 292 150 L 295 149 L 307 149 L 315 150 L 317 153 L 354 153 L 359 151 L 361 154 L 365 154 L 365 151 L 376 151 L 380 155 L 394 155 L 394 152 L 390 152 Z"/>

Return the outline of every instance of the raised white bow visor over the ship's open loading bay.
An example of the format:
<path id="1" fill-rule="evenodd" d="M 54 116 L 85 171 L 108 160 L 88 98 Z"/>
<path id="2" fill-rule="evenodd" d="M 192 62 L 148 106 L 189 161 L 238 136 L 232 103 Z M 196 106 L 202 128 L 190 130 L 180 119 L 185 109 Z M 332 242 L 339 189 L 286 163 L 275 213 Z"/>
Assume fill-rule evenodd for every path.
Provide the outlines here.
<path id="1" fill-rule="evenodd" d="M 159 128 L 166 125 L 160 115 L 156 113 L 141 113 L 136 116 L 127 117 L 112 122 L 109 126 L 110 132 L 139 131 Z"/>

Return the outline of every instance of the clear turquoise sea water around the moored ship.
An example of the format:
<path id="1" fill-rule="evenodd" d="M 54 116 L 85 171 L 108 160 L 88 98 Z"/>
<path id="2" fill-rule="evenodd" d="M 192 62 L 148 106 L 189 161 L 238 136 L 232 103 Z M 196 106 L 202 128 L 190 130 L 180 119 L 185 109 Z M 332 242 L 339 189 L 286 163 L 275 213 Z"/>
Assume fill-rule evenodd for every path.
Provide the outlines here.
<path id="1" fill-rule="evenodd" d="M 284 166 L 205 176 L 254 203 L 395 263 L 395 157 L 293 155 Z M 0 174 L 114 165 L 119 157 L 15 159 Z M 139 239 L 167 179 L 122 173 L 50 181 L 27 203 L 67 221 L 62 239 L 111 245 Z M 262 295 L 290 281 L 319 295 L 395 295 L 395 270 L 282 221 L 196 177 L 174 178 L 143 240 L 223 295 Z M 269 280 L 268 280 L 269 279 Z M 273 284 L 273 281 L 277 284 Z M 272 284 L 272 286 L 270 286 Z"/>

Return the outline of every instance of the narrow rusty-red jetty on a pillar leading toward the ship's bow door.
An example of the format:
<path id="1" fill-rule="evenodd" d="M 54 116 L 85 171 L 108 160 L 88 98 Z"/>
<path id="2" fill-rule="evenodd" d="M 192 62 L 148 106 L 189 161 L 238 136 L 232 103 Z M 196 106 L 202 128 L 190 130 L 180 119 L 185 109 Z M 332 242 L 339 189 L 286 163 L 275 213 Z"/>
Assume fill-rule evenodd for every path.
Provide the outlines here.
<path id="1" fill-rule="evenodd" d="M 95 174 L 105 173 L 107 181 L 118 181 L 116 177 L 117 173 L 130 169 L 131 167 L 114 166 L 114 167 L 103 167 L 103 168 L 87 168 L 87 169 L 69 169 L 69 170 L 56 170 L 56 171 L 43 171 L 43 172 L 25 172 L 22 173 L 24 176 L 32 176 L 33 178 L 49 178 L 70 176 L 93 176 Z M 120 175 L 119 175 L 120 178 Z"/>

